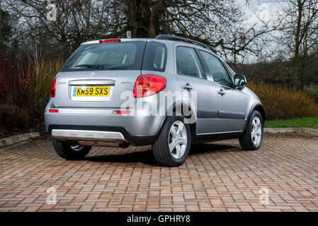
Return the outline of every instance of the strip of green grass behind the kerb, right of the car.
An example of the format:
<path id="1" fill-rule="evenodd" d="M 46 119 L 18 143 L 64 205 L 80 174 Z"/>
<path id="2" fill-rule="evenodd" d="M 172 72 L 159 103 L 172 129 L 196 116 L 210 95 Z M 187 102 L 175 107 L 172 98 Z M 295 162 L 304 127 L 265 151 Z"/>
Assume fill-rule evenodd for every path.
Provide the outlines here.
<path id="1" fill-rule="evenodd" d="M 265 121 L 265 128 L 310 127 L 318 129 L 318 118 Z"/>

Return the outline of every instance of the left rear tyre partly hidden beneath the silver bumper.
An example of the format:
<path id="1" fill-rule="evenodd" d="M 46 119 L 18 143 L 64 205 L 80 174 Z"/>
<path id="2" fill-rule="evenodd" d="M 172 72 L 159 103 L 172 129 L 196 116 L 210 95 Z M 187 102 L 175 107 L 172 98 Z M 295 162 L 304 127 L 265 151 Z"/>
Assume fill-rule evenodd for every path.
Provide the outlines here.
<path id="1" fill-rule="evenodd" d="M 55 152 L 66 160 L 82 160 L 91 150 L 91 146 L 77 145 L 72 141 L 52 141 Z"/>

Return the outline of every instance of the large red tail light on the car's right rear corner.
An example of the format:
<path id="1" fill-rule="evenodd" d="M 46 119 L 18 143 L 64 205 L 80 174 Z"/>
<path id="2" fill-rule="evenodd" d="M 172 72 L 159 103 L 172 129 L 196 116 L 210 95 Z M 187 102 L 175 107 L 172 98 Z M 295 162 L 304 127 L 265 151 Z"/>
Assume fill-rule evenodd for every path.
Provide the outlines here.
<path id="1" fill-rule="evenodd" d="M 166 87 L 166 78 L 154 75 L 140 75 L 134 88 L 134 97 L 148 97 Z"/>

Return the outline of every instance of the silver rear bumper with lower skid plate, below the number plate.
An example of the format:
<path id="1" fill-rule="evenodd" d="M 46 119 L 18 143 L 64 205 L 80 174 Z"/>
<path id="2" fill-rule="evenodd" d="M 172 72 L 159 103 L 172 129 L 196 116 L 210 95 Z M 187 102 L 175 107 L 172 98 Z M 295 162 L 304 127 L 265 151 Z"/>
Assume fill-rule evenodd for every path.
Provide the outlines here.
<path id="1" fill-rule="evenodd" d="M 104 141 L 149 145 L 156 141 L 164 118 L 161 116 L 124 116 L 115 109 L 60 108 L 45 110 L 47 132 L 57 139 Z"/>

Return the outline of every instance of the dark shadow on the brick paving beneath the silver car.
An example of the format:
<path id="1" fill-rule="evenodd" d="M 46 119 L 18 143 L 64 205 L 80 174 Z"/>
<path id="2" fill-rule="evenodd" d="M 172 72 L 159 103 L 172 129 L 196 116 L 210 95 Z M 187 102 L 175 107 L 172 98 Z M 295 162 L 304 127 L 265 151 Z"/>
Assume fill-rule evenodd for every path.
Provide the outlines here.
<path id="1" fill-rule="evenodd" d="M 231 145 L 219 145 L 214 143 L 200 143 L 191 146 L 189 155 L 198 155 L 202 153 L 210 153 L 215 151 L 228 151 L 230 149 L 237 149 Z M 154 159 L 151 150 L 140 151 L 135 153 L 125 153 L 120 155 L 95 155 L 87 156 L 86 160 L 91 162 L 141 162 L 145 165 L 158 165 Z"/>

